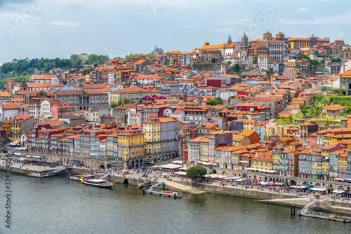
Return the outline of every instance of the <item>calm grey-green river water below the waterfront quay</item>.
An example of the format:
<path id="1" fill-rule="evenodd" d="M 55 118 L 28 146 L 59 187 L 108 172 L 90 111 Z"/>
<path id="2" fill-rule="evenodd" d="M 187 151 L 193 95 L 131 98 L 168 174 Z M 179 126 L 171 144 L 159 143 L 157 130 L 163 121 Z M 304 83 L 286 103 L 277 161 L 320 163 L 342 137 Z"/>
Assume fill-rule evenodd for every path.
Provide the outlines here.
<path id="1" fill-rule="evenodd" d="M 351 233 L 350 223 L 291 216 L 290 207 L 248 198 L 183 193 L 174 199 L 143 195 L 135 186 L 95 188 L 16 174 L 8 229 L 4 172 L 0 179 L 0 233 Z"/>

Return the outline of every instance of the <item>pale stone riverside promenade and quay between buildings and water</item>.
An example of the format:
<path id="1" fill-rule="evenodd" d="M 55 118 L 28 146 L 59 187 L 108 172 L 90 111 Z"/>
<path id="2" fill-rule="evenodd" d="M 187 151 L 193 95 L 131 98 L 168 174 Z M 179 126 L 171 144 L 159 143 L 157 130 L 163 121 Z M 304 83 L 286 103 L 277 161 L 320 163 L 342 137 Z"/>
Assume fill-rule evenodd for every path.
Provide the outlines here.
<path id="1" fill-rule="evenodd" d="M 12 163 L 11 168 L 13 172 L 20 174 L 30 174 L 32 172 L 48 172 L 51 170 L 58 170 L 60 167 L 43 167 L 37 165 L 25 165 L 20 168 L 21 163 Z M 0 169 L 4 170 L 4 160 L 0 162 Z M 213 182 L 212 184 L 207 183 L 194 183 L 191 179 L 180 178 L 180 177 L 169 177 L 168 180 L 162 176 L 161 171 L 152 170 L 151 173 L 147 174 L 147 178 L 141 177 L 142 173 L 138 173 L 137 170 L 128 170 L 128 173 L 121 173 L 120 171 L 108 170 L 110 175 L 107 177 L 110 181 L 116 181 L 117 183 L 127 184 L 140 184 L 151 182 L 151 184 L 157 184 L 164 181 L 166 185 L 164 188 L 171 189 L 173 191 L 180 191 L 193 194 L 201 193 L 220 193 L 226 195 L 236 195 L 246 198 L 257 199 L 260 202 L 267 202 L 272 204 L 280 205 L 296 205 L 303 207 L 310 202 L 310 199 L 314 198 L 311 193 L 297 193 L 297 191 L 291 190 L 289 193 L 284 190 L 273 191 L 270 188 L 253 186 L 232 186 L 230 184 L 220 184 L 220 182 Z M 71 174 L 86 174 L 90 172 L 90 169 L 85 167 L 72 166 Z M 166 172 L 167 174 L 169 172 Z M 101 176 L 103 174 L 100 174 Z M 150 180 L 151 177 L 151 180 Z M 332 212 L 338 212 L 343 214 L 351 214 L 351 200 L 343 200 L 342 198 L 331 198 L 331 194 L 320 195 L 320 200 L 324 200 L 331 204 Z M 316 207 L 319 209 L 319 207 Z M 323 209 L 320 207 L 320 209 Z"/>

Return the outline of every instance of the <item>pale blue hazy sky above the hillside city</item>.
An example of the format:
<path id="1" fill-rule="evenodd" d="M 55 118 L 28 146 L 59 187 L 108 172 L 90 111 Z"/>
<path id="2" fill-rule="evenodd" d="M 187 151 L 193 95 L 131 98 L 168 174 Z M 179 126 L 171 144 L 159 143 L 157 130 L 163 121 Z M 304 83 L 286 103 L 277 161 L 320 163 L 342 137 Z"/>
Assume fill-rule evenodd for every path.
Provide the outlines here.
<path id="1" fill-rule="evenodd" d="M 95 53 L 124 57 L 154 46 L 191 51 L 272 36 L 350 43 L 349 1 L 335 0 L 0 0 L 0 64 Z"/>

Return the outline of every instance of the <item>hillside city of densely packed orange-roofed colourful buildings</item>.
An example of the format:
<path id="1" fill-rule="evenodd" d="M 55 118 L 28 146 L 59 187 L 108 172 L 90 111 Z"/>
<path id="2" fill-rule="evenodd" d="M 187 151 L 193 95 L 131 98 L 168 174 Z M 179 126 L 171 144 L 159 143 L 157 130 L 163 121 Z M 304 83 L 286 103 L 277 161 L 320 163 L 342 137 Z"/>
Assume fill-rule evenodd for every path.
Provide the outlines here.
<path id="1" fill-rule="evenodd" d="M 267 31 L 187 53 L 13 60 L 1 66 L 1 144 L 92 167 L 182 157 L 351 179 L 350 57 L 342 40 Z"/>

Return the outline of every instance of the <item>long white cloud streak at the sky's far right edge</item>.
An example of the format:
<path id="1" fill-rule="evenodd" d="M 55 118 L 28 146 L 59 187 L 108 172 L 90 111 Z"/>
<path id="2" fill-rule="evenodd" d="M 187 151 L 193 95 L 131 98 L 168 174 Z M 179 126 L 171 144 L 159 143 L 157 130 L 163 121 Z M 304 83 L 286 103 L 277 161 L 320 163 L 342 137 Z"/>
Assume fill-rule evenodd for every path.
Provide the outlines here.
<path id="1" fill-rule="evenodd" d="M 316 17 L 310 20 L 280 19 L 285 25 L 347 25 L 351 21 L 351 10 L 338 15 Z"/>

